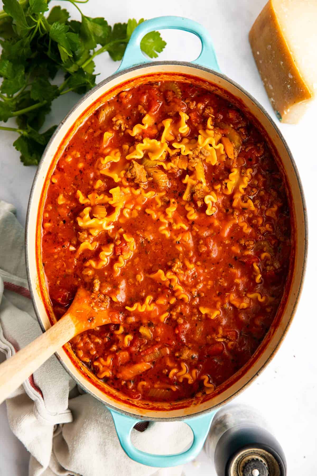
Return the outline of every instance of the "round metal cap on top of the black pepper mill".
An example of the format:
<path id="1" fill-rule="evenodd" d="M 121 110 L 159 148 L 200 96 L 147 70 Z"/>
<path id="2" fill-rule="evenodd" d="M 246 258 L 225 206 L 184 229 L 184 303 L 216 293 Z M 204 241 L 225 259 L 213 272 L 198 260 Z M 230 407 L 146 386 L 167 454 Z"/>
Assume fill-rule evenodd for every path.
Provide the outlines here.
<path id="1" fill-rule="evenodd" d="M 242 448 L 232 456 L 228 476 L 283 476 L 275 456 L 259 447 Z"/>

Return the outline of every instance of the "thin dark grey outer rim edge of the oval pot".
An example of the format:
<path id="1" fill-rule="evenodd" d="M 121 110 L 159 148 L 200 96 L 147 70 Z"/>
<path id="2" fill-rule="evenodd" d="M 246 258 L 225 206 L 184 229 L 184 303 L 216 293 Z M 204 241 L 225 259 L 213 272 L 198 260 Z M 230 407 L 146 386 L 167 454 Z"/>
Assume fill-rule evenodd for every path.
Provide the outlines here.
<path id="1" fill-rule="evenodd" d="M 255 99 L 246 89 L 244 89 L 243 87 L 240 86 L 240 84 L 238 84 L 237 82 L 235 82 L 233 79 L 230 79 L 228 78 L 228 76 L 226 76 L 225 74 L 221 73 L 221 72 L 218 72 L 218 71 L 215 71 L 214 69 L 210 69 L 210 68 L 206 68 L 204 66 L 200 66 L 198 64 L 194 64 L 194 63 L 191 63 L 189 61 L 151 61 L 149 63 L 143 63 L 143 64 L 139 64 L 139 65 L 136 65 L 136 66 L 132 66 L 131 68 L 127 68 L 127 69 L 123 69 L 123 70 L 120 70 L 120 71 L 117 71 L 115 72 L 114 74 L 108 76 L 106 79 L 104 79 L 103 81 L 101 81 L 100 83 L 98 83 L 93 89 L 90 89 L 89 91 L 86 92 L 86 94 L 80 98 L 76 104 L 69 110 L 69 112 L 67 113 L 67 115 L 64 117 L 64 119 L 61 120 L 61 122 L 59 123 L 57 129 L 55 130 L 54 134 L 52 135 L 51 139 L 49 140 L 44 152 L 43 152 L 43 155 L 39 161 L 39 164 L 38 164 L 38 169 L 36 170 L 36 173 L 35 173 L 35 176 L 34 176 L 34 179 L 33 179 L 33 183 L 32 183 L 32 187 L 31 187 L 31 190 L 30 190 L 30 195 L 29 195 L 29 202 L 28 202 L 28 208 L 27 208 L 27 216 L 26 216 L 26 223 L 25 223 L 25 262 L 26 262 L 26 270 L 27 270 L 27 278 L 28 278 L 28 284 L 29 284 L 29 292 L 30 292 L 30 296 L 31 296 L 31 300 L 32 300 L 32 304 L 33 304 L 33 307 L 34 307 L 34 310 L 35 310 L 35 314 L 36 314 L 36 317 L 38 319 L 38 324 L 39 324 L 39 327 L 41 328 L 41 331 L 44 333 L 46 331 L 45 327 L 43 326 L 43 323 L 42 323 L 42 320 L 41 320 L 41 317 L 40 317 L 40 314 L 38 312 L 38 308 L 35 304 L 35 296 L 34 296 L 34 292 L 33 292 L 33 287 L 32 287 L 32 281 L 31 281 L 31 276 L 30 276 L 30 270 L 29 270 L 29 252 L 28 252 L 28 248 L 29 248 L 29 223 L 30 223 L 30 208 L 31 208 L 31 203 L 33 201 L 33 196 L 34 196 L 34 190 L 35 190 L 35 186 L 36 186 L 36 183 L 38 181 L 38 176 L 40 174 L 40 169 L 42 167 L 42 165 L 44 164 L 45 162 L 45 159 L 46 159 L 46 156 L 48 154 L 48 150 L 50 149 L 50 146 L 51 146 L 51 143 L 53 142 L 53 140 L 55 139 L 55 137 L 57 136 L 59 130 L 62 128 L 62 126 L 65 124 L 65 122 L 67 122 L 68 118 L 73 114 L 73 112 L 83 103 L 86 101 L 86 99 L 88 99 L 92 94 L 94 94 L 97 89 L 100 89 L 102 88 L 105 84 L 107 84 L 108 82 L 112 81 L 113 79 L 117 79 L 117 78 L 120 78 L 120 76 L 123 76 L 125 75 L 126 73 L 128 72 L 132 72 L 132 71 L 137 71 L 138 69 L 143 69 L 143 68 L 149 68 L 149 67 L 159 67 L 159 66 L 164 66 L 164 65 L 175 65 L 175 66 L 187 66 L 187 67 L 190 67 L 192 69 L 197 69 L 198 71 L 199 70 L 202 70 L 202 71 L 206 71 L 208 73 L 211 73 L 215 76 L 218 76 L 220 77 L 221 79 L 224 79 L 225 81 L 229 82 L 231 85 L 233 85 L 234 87 L 236 87 L 237 89 L 240 89 L 240 91 L 242 91 L 249 99 L 251 99 L 251 101 L 255 104 L 255 106 L 260 109 L 260 111 L 266 116 L 266 118 L 269 120 L 271 126 L 273 127 L 273 129 L 275 129 L 275 132 L 278 134 L 280 140 L 282 141 L 283 143 L 283 146 L 285 147 L 287 153 L 288 153 L 288 157 L 291 161 L 291 164 L 292 164 L 292 167 L 294 169 L 294 172 L 295 172 L 295 175 L 296 175 L 296 179 L 297 179 L 297 182 L 298 182 L 298 187 L 299 187 L 299 191 L 300 191 L 300 197 L 301 197 L 301 201 L 302 201 L 302 205 L 303 205 L 303 214 L 304 214 L 304 258 L 303 258 L 303 267 L 302 267 L 302 271 L 301 271 L 301 277 L 300 277 L 300 284 L 298 286 L 298 293 L 297 293 L 297 296 L 296 296 L 296 299 L 295 299 L 295 303 L 294 303 L 294 306 L 292 308 L 292 312 L 291 312 L 291 315 L 288 319 L 288 323 L 287 323 L 287 326 L 285 327 L 284 329 L 284 332 L 282 334 L 282 336 L 280 337 L 279 341 L 276 343 L 274 349 L 272 350 L 272 352 L 270 353 L 269 357 L 265 360 L 265 362 L 263 363 L 263 365 L 259 368 L 258 372 L 256 374 L 253 375 L 253 377 L 251 377 L 242 387 L 240 387 L 235 393 L 231 394 L 230 397 L 227 397 L 225 400 L 223 400 L 221 403 L 217 404 L 217 405 L 214 405 L 210 408 L 207 408 L 205 410 L 202 410 L 202 411 L 198 411 L 196 413 L 193 413 L 191 415 L 184 415 L 184 416 L 181 416 L 181 417 L 169 417 L 169 418 L 161 418 L 161 417 L 146 417 L 146 416 L 143 416 L 143 415 L 138 415 L 138 414 L 135 414 L 135 413 L 130 413 L 130 412 L 127 412 L 125 410 L 122 410 L 121 408 L 118 408 L 118 407 L 115 407 L 114 405 L 111 405 L 109 403 L 106 403 L 105 401 L 103 401 L 100 397 L 98 397 L 97 395 L 95 395 L 92 391 L 90 391 L 89 389 L 87 389 L 86 387 L 83 388 L 83 384 L 81 382 L 79 382 L 79 380 L 77 379 L 77 377 L 75 377 L 75 375 L 71 372 L 71 370 L 67 367 L 67 365 L 63 362 L 62 358 L 59 356 L 58 352 L 55 352 L 55 357 L 58 359 L 58 361 L 60 362 L 60 364 L 64 367 L 64 369 L 66 370 L 67 374 L 69 374 L 69 376 L 71 378 L 73 378 L 73 380 L 75 380 L 75 382 L 77 383 L 77 385 L 81 388 L 83 388 L 83 390 L 90 394 L 92 397 L 96 398 L 98 401 L 100 401 L 101 403 L 103 403 L 106 407 L 109 407 L 111 410 L 114 410 L 116 411 L 117 413 L 121 413 L 127 417 L 130 417 L 130 418 L 135 418 L 137 420 L 144 420 L 144 421 L 159 421 L 159 422 L 171 422 L 171 421 L 181 421 L 181 420 L 188 420 L 190 418 L 195 418 L 195 417 L 198 417 L 198 416 L 202 416 L 203 414 L 207 414 L 207 413 L 211 413 L 213 412 L 215 409 L 219 408 L 219 407 L 222 407 L 223 405 L 229 403 L 233 398 L 237 397 L 238 395 L 240 395 L 240 393 L 242 391 L 244 391 L 247 387 L 249 387 L 249 385 L 252 383 L 252 381 L 259 376 L 259 374 L 264 370 L 265 367 L 267 367 L 267 365 L 269 364 L 269 362 L 273 359 L 273 357 L 276 355 L 277 351 L 279 350 L 279 347 L 282 343 L 282 341 L 284 340 L 287 332 L 288 332 L 288 329 L 289 329 L 289 326 L 291 324 L 291 322 L 293 321 L 293 318 L 294 318 L 294 315 L 296 313 L 296 310 L 297 310 L 297 307 L 298 307 L 298 302 L 299 302 L 299 298 L 300 298 L 300 295 L 302 293 L 302 289 L 303 289 L 303 282 L 304 282 L 304 278 L 305 278 L 305 273 L 306 273 L 306 267 L 307 267 L 307 250 L 308 250 L 308 220 L 307 220 L 307 208 L 306 208 L 306 200 L 305 200 L 305 196 L 304 196 L 304 190 L 303 190 L 303 186 L 302 186 L 302 183 L 301 183 L 301 179 L 299 177 L 299 173 L 298 173 L 298 169 L 297 169 L 297 166 L 296 166 L 296 163 L 295 163 L 295 160 L 293 158 L 293 155 L 288 147 L 288 144 L 286 142 L 286 140 L 284 139 L 281 131 L 279 130 L 279 128 L 277 127 L 276 123 L 274 122 L 274 120 L 271 118 L 271 116 L 269 115 L 269 113 L 266 111 L 266 109 L 263 108 L 263 106 L 259 103 L 259 101 L 257 99 Z M 159 72 L 159 71 L 158 71 Z"/>

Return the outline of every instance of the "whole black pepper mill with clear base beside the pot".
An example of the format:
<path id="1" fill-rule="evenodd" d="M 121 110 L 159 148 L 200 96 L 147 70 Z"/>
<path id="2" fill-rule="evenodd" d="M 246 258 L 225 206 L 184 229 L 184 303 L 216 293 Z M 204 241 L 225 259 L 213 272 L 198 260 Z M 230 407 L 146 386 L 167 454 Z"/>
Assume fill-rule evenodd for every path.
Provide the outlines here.
<path id="1" fill-rule="evenodd" d="M 286 476 L 286 459 L 267 423 L 254 409 L 225 406 L 216 413 L 205 444 L 218 476 Z"/>

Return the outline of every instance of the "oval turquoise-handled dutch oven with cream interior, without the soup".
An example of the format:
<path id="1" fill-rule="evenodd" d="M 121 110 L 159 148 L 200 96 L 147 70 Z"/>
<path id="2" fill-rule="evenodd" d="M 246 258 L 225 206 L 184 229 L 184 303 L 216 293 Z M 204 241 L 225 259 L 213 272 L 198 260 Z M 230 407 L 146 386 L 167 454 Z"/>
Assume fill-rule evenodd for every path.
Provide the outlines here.
<path id="1" fill-rule="evenodd" d="M 153 30 L 186 30 L 197 35 L 202 50 L 192 62 L 150 61 L 140 50 L 140 41 Z M 288 282 L 277 316 L 267 336 L 250 361 L 218 387 L 210 396 L 172 403 L 155 403 L 144 400 L 128 400 L 119 392 L 106 386 L 89 373 L 66 344 L 56 356 L 78 385 L 93 397 L 103 402 L 112 414 L 121 446 L 135 461 L 149 466 L 176 466 L 190 461 L 201 450 L 208 434 L 215 410 L 230 401 L 259 374 L 277 351 L 294 315 L 302 287 L 307 255 L 307 217 L 305 199 L 296 165 L 285 140 L 268 113 L 259 103 L 231 79 L 220 73 L 211 38 L 207 30 L 198 23 L 180 17 L 160 17 L 144 21 L 133 32 L 124 58 L 116 73 L 89 91 L 61 122 L 51 138 L 38 166 L 29 199 L 26 228 L 26 261 L 29 288 L 38 322 L 43 331 L 54 323 L 54 315 L 45 287 L 40 259 L 40 217 L 46 195 L 47 178 L 50 177 L 58 160 L 58 150 L 82 121 L 102 103 L 127 87 L 151 81 L 151 75 L 160 74 L 160 79 L 190 80 L 209 90 L 221 91 L 221 95 L 236 104 L 249 115 L 266 137 L 288 184 L 288 201 L 293 230 L 293 250 Z M 190 79 L 189 79 L 190 78 Z M 154 79 L 152 79 L 154 80 Z M 177 455 L 151 455 L 136 449 L 130 440 L 135 423 L 142 420 L 183 420 L 193 432 L 192 446 Z"/>

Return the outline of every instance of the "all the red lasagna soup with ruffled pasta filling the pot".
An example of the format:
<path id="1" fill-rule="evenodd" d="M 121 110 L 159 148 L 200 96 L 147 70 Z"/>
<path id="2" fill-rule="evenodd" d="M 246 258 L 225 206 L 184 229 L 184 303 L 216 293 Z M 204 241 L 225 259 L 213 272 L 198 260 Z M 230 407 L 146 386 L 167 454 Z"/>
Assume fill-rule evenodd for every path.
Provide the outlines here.
<path id="1" fill-rule="evenodd" d="M 41 258 L 56 317 L 79 286 L 122 314 L 71 341 L 96 377 L 176 401 L 250 359 L 283 296 L 291 233 L 282 174 L 240 109 L 189 79 L 122 90 L 49 180 Z"/>

